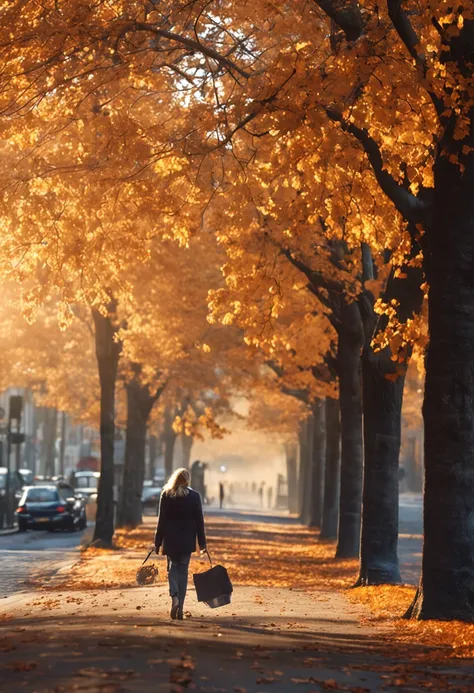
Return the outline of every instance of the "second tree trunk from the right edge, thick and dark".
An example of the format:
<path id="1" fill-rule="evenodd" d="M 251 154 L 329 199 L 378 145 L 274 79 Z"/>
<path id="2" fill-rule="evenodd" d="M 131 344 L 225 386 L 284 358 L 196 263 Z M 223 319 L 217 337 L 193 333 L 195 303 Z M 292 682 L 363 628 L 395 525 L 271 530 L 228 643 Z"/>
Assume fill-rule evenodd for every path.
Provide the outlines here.
<path id="1" fill-rule="evenodd" d="M 416 247 L 412 255 L 418 251 Z M 418 267 L 403 270 L 403 279 L 392 272 L 383 300 L 396 300 L 398 318 L 406 323 L 421 310 L 423 275 Z M 380 320 L 377 332 L 386 324 L 385 318 Z M 389 347 L 374 352 L 371 338 L 370 332 L 362 354 L 364 488 L 358 584 L 397 584 L 401 582 L 397 544 L 402 402 L 411 349 L 405 349 L 404 360 L 397 362 Z"/>

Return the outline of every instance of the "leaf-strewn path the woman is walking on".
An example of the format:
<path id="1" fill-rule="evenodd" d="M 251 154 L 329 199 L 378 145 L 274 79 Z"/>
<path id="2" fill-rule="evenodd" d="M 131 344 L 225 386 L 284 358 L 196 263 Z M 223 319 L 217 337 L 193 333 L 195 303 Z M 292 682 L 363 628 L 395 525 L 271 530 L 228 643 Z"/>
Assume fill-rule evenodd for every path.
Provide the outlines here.
<path id="1" fill-rule="evenodd" d="M 214 536 L 227 532 L 228 522 L 213 523 Z M 214 611 L 199 605 L 191 590 L 186 603 L 188 618 L 182 622 L 171 622 L 168 617 L 164 562 L 159 563 L 156 585 L 123 586 L 124 575 L 133 574 L 137 567 L 139 554 L 132 547 L 125 552 L 88 555 L 82 564 L 86 572 L 80 577 L 79 566 L 71 573 L 69 586 L 45 585 L 35 593 L 4 600 L 0 691 L 474 690 L 474 667 L 469 660 L 449 661 L 425 645 L 397 644 L 390 631 L 369 623 L 364 607 L 349 602 L 334 586 L 308 589 L 305 562 L 292 560 L 292 542 L 285 550 L 283 527 L 274 528 L 282 547 L 275 560 L 280 566 L 286 562 L 285 574 L 293 574 L 295 582 L 300 580 L 301 588 L 267 586 L 266 556 L 275 552 L 270 529 L 252 524 L 249 536 L 249 525 L 242 528 L 235 523 L 234 527 L 233 565 L 241 560 L 238 539 L 245 537 L 253 564 L 247 580 L 242 569 L 236 582 L 258 581 L 261 571 L 262 583 L 237 584 L 232 605 Z M 295 527 L 294 541 L 298 532 Z M 298 541 L 304 543 L 303 534 L 301 529 Z M 314 537 L 305 541 L 307 571 L 315 571 L 322 559 L 311 562 Z M 228 559 L 232 559 L 230 553 Z M 108 572 L 107 586 L 94 588 L 87 582 L 94 570 L 98 581 Z"/>

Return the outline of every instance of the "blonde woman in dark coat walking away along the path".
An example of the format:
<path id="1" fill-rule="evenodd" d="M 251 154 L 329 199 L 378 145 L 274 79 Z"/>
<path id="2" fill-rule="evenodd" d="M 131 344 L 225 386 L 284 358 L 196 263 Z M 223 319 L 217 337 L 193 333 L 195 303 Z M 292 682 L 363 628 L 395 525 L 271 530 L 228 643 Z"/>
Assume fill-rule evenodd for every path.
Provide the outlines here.
<path id="1" fill-rule="evenodd" d="M 156 553 L 163 547 L 168 557 L 172 619 L 183 618 L 189 561 L 196 551 L 196 539 L 201 553 L 206 551 L 201 497 L 189 487 L 190 479 L 187 469 L 177 469 L 163 487 L 155 534 Z"/>

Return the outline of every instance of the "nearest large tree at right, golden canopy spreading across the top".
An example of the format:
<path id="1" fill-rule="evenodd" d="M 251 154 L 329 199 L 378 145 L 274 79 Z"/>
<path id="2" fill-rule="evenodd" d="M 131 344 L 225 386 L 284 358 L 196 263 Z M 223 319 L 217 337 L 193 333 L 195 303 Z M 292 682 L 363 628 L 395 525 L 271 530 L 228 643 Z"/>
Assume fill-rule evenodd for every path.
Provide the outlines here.
<path id="1" fill-rule="evenodd" d="M 307 208 L 302 218 L 295 215 L 293 220 L 314 228 L 319 216 L 315 201 L 320 201 L 330 236 L 354 252 L 361 242 L 376 254 L 393 250 L 400 221 L 407 222 L 406 233 L 423 249 L 430 284 L 424 404 L 426 536 L 422 588 L 414 613 L 472 620 L 471 11 L 459 3 L 446 8 L 431 0 L 421 4 L 388 0 L 382 5 L 327 0 L 308 5 L 294 0 L 285 13 L 274 8 L 269 18 L 268 7 L 258 3 L 203 7 L 197 2 L 191 15 L 188 7 L 165 5 L 158 9 L 155 3 L 91 7 L 50 2 L 43 7 L 16 2 L 2 9 L 2 25 L 15 28 L 13 37 L 2 43 L 6 85 L 1 92 L 2 112 L 7 118 L 25 114 L 25 128 L 31 133 L 26 149 L 37 153 L 32 167 L 37 190 L 32 183 L 28 186 L 35 192 L 31 202 L 22 185 L 11 187 L 4 200 L 6 219 L 14 217 L 5 227 L 9 229 L 6 256 L 18 258 L 28 227 L 34 228 L 41 249 L 42 234 L 35 224 L 38 210 L 46 207 L 38 199 L 45 194 L 40 178 L 66 166 L 63 157 L 53 156 L 59 149 L 51 147 L 48 159 L 38 145 L 52 142 L 64 127 L 68 136 L 73 132 L 82 139 L 84 125 L 89 134 L 95 132 L 90 123 L 97 124 L 99 113 L 108 121 L 112 112 L 120 132 L 117 114 L 126 113 L 119 108 L 122 99 L 127 101 L 130 90 L 143 83 L 148 86 L 143 104 L 147 115 L 155 116 L 152 143 L 148 133 L 142 137 L 142 126 L 136 128 L 139 155 L 128 158 L 122 156 L 119 136 L 103 137 L 102 142 L 115 143 L 115 156 L 105 157 L 107 165 L 115 160 L 123 171 L 121 162 L 128 160 L 135 175 L 157 157 L 168 157 L 172 142 L 173 182 L 189 183 L 190 172 L 196 173 L 206 162 L 197 185 L 194 178 L 181 196 L 196 201 L 210 181 L 214 190 L 224 191 L 236 170 L 256 162 L 258 175 L 249 177 L 246 188 L 252 195 L 257 189 L 266 198 L 261 204 L 264 216 L 272 212 L 276 216 L 276 197 L 283 210 L 292 199 L 293 209 Z M 237 36 L 227 30 L 230 22 L 238 27 Z M 31 26 L 35 31 L 26 30 Z M 110 109 L 103 75 L 110 77 L 115 90 Z M 130 83 L 134 86 L 124 90 Z M 188 99 L 184 85 L 189 85 Z M 186 103 L 189 118 L 158 122 L 157 92 L 179 92 L 174 105 Z M 56 113 L 66 113 L 66 121 L 58 122 Z M 48 115 L 53 125 L 38 137 L 39 124 L 42 127 Z M 11 127 L 11 121 L 5 127 Z M 90 138 L 85 143 L 88 156 L 97 149 L 105 153 L 98 146 L 101 138 L 91 134 Z M 31 180 L 30 172 L 24 172 L 25 138 L 19 140 L 5 139 L 4 161 L 19 162 L 20 180 Z M 273 182 L 273 165 L 290 148 L 297 173 Z M 183 153 L 181 170 L 176 166 L 177 151 Z M 77 157 L 69 160 L 66 168 L 90 169 L 92 163 L 95 170 L 101 168 L 103 159 L 97 155 L 80 155 L 79 162 Z M 302 180 L 317 185 L 306 189 Z M 176 191 L 176 186 L 170 190 Z M 232 199 L 238 204 L 235 188 Z M 184 235 L 193 220 L 188 212 L 185 209 L 182 217 L 187 223 Z M 44 213 L 49 218 L 47 210 Z M 174 233 L 183 233 L 176 219 L 170 226 Z M 163 220 L 166 223 L 166 217 Z M 206 209 L 194 228 L 207 224 L 211 220 Z M 447 228 L 453 229 L 449 240 Z M 302 247 L 292 252 L 293 257 L 305 255 L 302 236 Z M 410 252 L 405 255 L 409 258 Z M 239 264 L 235 255 L 233 261 Z M 403 262 L 398 264 L 401 267 Z M 445 426 L 445 421 L 462 425 Z M 454 439 L 453 429 L 459 431 Z"/>

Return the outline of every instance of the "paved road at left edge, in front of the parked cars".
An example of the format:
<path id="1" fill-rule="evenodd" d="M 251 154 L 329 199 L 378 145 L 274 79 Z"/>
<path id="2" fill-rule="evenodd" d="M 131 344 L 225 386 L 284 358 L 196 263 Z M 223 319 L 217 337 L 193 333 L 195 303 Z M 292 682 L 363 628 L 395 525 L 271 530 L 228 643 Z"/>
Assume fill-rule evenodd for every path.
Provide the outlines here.
<path id="1" fill-rule="evenodd" d="M 26 532 L 0 536 L 0 599 L 28 588 L 38 574 L 52 575 L 78 556 L 82 532 Z"/>

